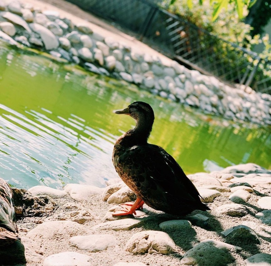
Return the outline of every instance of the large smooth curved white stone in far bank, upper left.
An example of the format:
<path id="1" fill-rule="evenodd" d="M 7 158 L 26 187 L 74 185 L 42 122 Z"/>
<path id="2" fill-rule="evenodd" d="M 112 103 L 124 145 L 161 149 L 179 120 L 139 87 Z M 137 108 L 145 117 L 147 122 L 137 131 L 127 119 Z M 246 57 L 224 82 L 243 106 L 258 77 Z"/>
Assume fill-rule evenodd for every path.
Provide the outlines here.
<path id="1" fill-rule="evenodd" d="M 40 35 L 46 50 L 54 50 L 58 47 L 58 40 L 49 29 L 37 23 L 31 23 L 29 26 L 34 32 Z"/>

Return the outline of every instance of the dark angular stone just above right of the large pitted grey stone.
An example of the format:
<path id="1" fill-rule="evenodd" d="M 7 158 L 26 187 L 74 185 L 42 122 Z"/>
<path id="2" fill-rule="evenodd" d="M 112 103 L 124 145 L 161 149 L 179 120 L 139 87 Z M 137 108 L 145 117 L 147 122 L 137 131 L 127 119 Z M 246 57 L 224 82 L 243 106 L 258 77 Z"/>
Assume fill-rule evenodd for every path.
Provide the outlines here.
<path id="1" fill-rule="evenodd" d="M 229 237 L 234 239 L 234 241 L 240 242 L 242 245 L 243 243 L 257 243 L 259 244 L 260 238 L 257 233 L 252 230 L 250 227 L 240 224 L 234 227 L 231 227 L 225 231 L 221 232 L 222 235 L 225 237 Z"/>

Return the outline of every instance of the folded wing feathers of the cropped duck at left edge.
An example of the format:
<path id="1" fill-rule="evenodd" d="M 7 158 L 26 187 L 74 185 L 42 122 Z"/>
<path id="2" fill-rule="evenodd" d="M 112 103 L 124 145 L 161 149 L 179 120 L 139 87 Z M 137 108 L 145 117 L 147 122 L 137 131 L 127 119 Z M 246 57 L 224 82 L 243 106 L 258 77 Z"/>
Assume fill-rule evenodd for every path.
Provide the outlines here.
<path id="1" fill-rule="evenodd" d="M 0 227 L 18 232 L 13 203 L 13 194 L 8 183 L 0 178 Z"/>

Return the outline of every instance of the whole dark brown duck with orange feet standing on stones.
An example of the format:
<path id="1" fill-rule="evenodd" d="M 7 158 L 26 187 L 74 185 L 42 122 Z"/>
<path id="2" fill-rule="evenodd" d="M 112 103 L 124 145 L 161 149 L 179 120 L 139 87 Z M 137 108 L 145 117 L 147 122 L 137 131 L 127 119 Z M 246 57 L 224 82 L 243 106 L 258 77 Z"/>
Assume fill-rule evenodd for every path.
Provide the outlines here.
<path id="1" fill-rule="evenodd" d="M 144 203 L 174 215 L 209 210 L 174 158 L 163 148 L 147 143 L 154 122 L 150 105 L 134 102 L 115 113 L 135 119 L 135 128 L 116 141 L 112 161 L 120 178 L 137 198 L 134 204 L 121 204 L 123 208 L 113 215 L 135 214 Z"/>

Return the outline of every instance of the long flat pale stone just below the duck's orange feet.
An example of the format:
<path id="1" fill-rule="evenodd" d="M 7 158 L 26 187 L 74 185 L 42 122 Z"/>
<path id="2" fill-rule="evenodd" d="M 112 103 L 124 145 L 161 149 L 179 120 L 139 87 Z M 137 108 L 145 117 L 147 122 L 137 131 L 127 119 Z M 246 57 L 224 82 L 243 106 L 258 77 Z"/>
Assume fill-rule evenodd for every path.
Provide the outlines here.
<path id="1" fill-rule="evenodd" d="M 109 221 L 105 223 L 100 223 L 95 226 L 93 226 L 91 229 L 95 230 L 130 230 L 134 227 L 136 227 L 141 221 L 135 220 L 131 218 L 116 220 L 116 221 Z"/>

